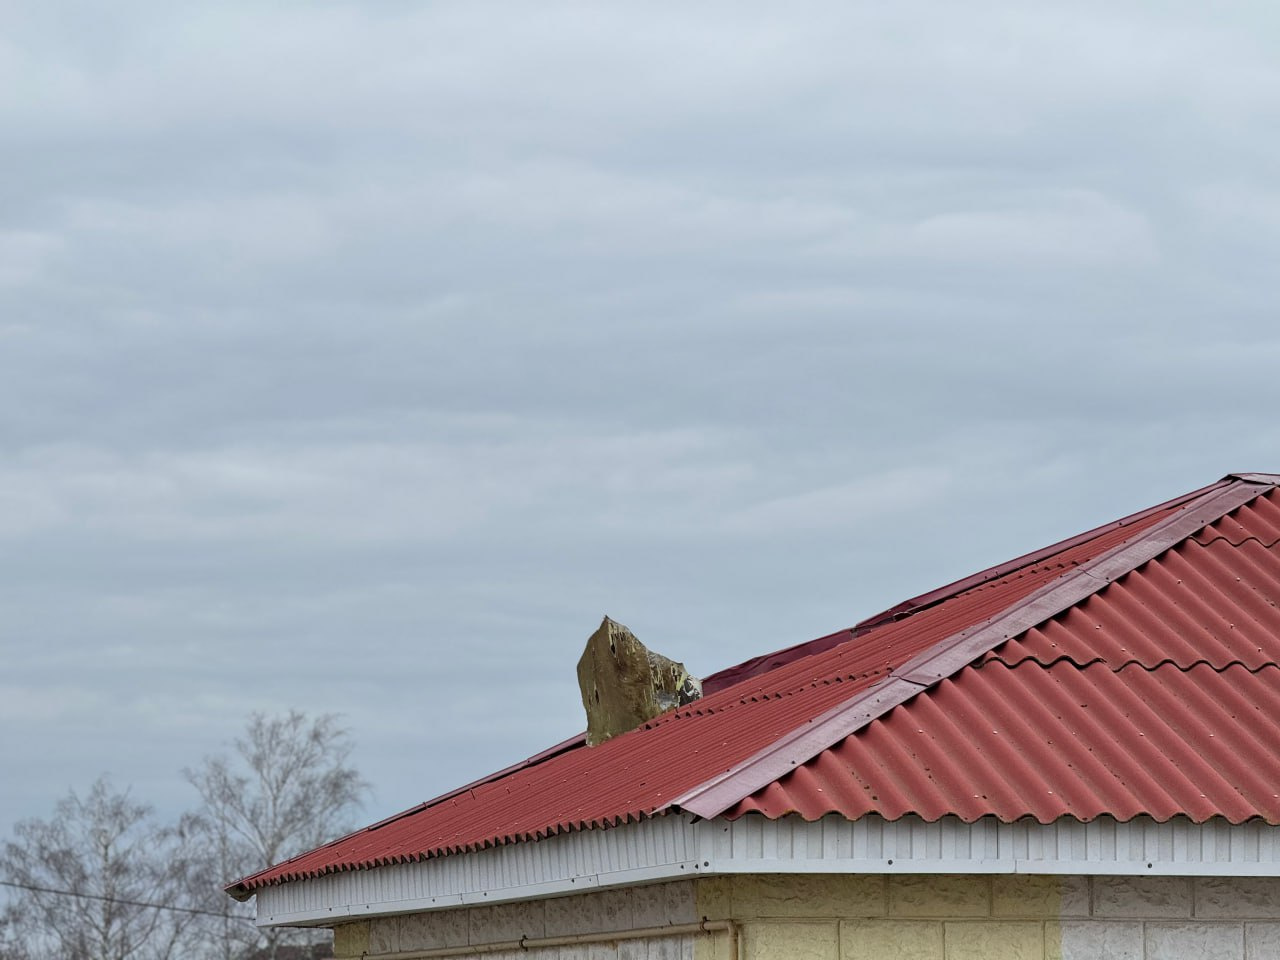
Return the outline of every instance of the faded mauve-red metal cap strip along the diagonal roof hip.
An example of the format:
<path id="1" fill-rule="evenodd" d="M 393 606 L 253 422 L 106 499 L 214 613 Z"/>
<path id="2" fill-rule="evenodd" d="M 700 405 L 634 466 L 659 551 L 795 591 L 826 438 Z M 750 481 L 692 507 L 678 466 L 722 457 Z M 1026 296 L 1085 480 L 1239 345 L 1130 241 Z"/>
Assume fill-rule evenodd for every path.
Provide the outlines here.
<path id="1" fill-rule="evenodd" d="M 1073 607 L 1280 484 L 1280 476 L 1274 475 L 1266 475 L 1266 479 L 1262 475 L 1229 475 L 1225 480 L 1225 485 L 1215 484 L 1207 493 L 1142 531 L 1135 539 L 1066 571 L 1011 604 L 1001 614 L 938 641 L 893 669 L 882 682 L 805 721 L 728 771 L 673 797 L 667 806 L 689 810 L 708 819 L 718 817 L 733 804 L 858 732 L 922 690 L 963 669 L 1018 632 Z"/>

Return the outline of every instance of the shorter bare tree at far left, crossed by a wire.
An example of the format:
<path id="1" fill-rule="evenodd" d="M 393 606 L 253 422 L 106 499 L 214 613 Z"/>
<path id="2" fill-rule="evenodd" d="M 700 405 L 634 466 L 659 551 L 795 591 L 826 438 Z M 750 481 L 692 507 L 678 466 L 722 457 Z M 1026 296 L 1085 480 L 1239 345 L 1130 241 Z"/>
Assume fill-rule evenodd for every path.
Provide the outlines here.
<path id="1" fill-rule="evenodd" d="M 187 956 L 195 915 L 148 905 L 182 899 L 189 833 L 100 777 L 52 818 L 14 827 L 0 849 L 13 897 L 5 956 L 31 960 L 170 960 Z"/>

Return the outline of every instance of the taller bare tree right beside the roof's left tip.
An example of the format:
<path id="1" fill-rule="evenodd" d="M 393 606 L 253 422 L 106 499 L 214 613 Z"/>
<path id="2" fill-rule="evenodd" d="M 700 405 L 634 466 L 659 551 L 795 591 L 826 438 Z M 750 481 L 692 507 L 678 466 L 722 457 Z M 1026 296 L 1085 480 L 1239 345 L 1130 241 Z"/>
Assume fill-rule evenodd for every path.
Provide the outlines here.
<path id="1" fill-rule="evenodd" d="M 366 790 L 348 763 L 352 744 L 334 714 L 307 717 L 291 710 L 279 717 L 256 713 L 232 755 L 209 756 L 197 769 L 183 771 L 204 801 L 210 869 L 223 882 L 253 873 L 333 840 L 351 828 L 349 818 Z M 216 910 L 233 913 L 220 895 Z M 207 902 L 207 901 L 206 901 Z M 233 960 L 252 948 L 238 922 L 223 923 L 221 956 Z M 268 931 L 265 952 L 278 955 L 285 941 L 302 934 Z"/>

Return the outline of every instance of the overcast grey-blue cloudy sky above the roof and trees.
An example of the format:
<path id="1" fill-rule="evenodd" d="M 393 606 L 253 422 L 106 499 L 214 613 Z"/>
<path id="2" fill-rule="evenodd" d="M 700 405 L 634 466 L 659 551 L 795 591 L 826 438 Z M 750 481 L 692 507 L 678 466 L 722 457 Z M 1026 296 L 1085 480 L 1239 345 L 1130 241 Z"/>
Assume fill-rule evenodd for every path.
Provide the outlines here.
<path id="1" fill-rule="evenodd" d="M 380 818 L 604 613 L 705 675 L 1280 470 L 1274 4 L 0 23 L 0 826 L 291 707 Z"/>

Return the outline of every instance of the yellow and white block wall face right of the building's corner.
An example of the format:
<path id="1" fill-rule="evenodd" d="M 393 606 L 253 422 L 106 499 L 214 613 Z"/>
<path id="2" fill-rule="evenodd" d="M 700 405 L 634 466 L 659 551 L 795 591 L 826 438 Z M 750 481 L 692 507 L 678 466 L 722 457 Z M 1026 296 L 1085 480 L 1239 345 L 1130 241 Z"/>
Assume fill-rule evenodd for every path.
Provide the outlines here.
<path id="1" fill-rule="evenodd" d="M 699 913 L 742 960 L 1280 960 L 1280 878 L 742 876 Z M 723 940 L 696 960 L 731 960 Z"/>

